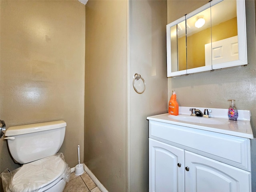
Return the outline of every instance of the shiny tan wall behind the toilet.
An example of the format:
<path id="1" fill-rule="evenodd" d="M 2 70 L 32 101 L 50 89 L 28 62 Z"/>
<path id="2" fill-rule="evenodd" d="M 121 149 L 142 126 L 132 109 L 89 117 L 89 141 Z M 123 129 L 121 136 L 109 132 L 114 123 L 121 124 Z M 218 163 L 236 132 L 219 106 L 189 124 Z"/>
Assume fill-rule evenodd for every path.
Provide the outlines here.
<path id="1" fill-rule="evenodd" d="M 7 128 L 64 120 L 70 167 L 84 152 L 85 6 L 78 1 L 1 0 L 1 119 Z M 1 171 L 18 167 L 1 139 Z"/>

